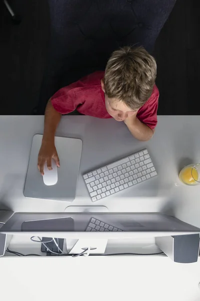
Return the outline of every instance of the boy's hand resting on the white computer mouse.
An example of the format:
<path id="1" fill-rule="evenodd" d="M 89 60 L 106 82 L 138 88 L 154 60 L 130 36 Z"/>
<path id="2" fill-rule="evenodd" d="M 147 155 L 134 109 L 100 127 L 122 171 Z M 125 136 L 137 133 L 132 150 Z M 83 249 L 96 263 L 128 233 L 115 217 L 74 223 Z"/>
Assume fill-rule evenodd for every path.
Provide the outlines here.
<path id="1" fill-rule="evenodd" d="M 57 156 L 57 150 L 55 148 L 55 144 L 53 142 L 42 142 L 41 147 L 39 149 L 37 167 L 40 174 L 43 176 L 43 166 L 46 162 L 48 170 L 51 170 L 51 160 L 55 161 L 57 167 L 59 167 L 59 158 Z"/>

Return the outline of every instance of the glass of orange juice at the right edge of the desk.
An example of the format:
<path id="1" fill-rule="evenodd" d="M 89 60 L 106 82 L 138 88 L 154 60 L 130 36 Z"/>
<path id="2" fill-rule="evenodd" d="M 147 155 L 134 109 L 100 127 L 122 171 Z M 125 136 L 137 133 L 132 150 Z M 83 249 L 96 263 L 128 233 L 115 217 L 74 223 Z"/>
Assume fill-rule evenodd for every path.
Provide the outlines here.
<path id="1" fill-rule="evenodd" d="M 185 166 L 179 173 L 179 179 L 186 185 L 200 184 L 200 164 L 190 164 Z"/>

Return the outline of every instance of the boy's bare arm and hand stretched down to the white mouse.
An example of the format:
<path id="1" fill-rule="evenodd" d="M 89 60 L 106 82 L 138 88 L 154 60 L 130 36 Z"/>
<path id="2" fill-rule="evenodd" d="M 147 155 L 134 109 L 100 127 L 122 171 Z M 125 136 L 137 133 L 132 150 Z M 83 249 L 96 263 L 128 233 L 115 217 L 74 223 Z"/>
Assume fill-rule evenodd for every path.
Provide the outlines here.
<path id="1" fill-rule="evenodd" d="M 37 162 L 37 166 L 41 175 L 43 175 L 43 166 L 45 162 L 49 170 L 52 169 L 52 159 L 54 159 L 56 165 L 59 167 L 59 158 L 57 156 L 57 151 L 54 144 L 54 136 L 60 118 L 61 114 L 53 108 L 51 99 L 49 99 L 45 109 L 43 138 Z"/>

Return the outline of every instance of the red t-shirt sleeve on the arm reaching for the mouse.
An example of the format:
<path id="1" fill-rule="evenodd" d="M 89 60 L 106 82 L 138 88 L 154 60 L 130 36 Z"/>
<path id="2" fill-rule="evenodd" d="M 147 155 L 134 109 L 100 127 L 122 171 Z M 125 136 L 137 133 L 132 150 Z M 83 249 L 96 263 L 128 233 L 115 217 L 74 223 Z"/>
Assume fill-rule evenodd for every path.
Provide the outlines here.
<path id="1" fill-rule="evenodd" d="M 60 114 L 73 112 L 81 101 L 76 97 L 74 84 L 59 89 L 52 97 L 51 104 Z"/>

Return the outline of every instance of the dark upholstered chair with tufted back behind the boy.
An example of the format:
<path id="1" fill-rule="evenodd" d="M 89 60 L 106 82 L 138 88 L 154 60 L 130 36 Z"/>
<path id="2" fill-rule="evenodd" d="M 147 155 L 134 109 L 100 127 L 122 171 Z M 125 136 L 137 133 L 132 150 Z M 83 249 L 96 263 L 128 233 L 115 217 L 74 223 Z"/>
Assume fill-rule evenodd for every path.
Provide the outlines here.
<path id="1" fill-rule="evenodd" d="M 51 38 L 37 114 L 62 86 L 103 70 L 111 52 L 142 45 L 149 52 L 175 0 L 48 0 Z"/>

